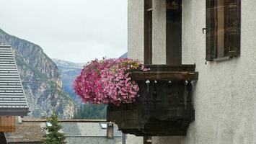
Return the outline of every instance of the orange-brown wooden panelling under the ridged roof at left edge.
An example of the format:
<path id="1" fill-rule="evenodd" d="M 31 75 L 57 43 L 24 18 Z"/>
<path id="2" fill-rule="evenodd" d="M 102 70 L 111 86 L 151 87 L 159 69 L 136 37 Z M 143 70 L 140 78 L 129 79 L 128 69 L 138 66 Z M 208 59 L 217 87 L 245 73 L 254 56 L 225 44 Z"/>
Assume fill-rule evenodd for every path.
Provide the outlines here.
<path id="1" fill-rule="evenodd" d="M 15 132 L 15 124 L 14 116 L 1 116 L 0 132 Z"/>

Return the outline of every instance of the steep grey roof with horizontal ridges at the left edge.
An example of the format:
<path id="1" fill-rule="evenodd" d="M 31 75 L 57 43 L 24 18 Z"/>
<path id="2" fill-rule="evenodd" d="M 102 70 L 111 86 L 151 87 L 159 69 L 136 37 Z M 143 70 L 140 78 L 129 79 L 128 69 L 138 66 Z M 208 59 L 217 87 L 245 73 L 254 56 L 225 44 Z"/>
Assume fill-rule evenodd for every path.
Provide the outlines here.
<path id="1" fill-rule="evenodd" d="M 9 45 L 0 45 L 0 115 L 26 116 L 27 100 Z"/>

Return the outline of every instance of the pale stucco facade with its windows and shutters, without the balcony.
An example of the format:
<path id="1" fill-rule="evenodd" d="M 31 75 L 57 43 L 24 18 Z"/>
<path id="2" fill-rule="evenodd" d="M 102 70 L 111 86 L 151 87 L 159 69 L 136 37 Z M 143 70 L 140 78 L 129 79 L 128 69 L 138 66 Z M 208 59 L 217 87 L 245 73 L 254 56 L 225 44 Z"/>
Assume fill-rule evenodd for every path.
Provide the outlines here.
<path id="1" fill-rule="evenodd" d="M 195 63 L 199 73 L 193 84 L 195 121 L 187 134 L 152 137 L 151 143 L 256 143 L 255 4 L 128 0 L 128 58 L 152 64 Z M 128 135 L 127 143 L 144 140 Z"/>

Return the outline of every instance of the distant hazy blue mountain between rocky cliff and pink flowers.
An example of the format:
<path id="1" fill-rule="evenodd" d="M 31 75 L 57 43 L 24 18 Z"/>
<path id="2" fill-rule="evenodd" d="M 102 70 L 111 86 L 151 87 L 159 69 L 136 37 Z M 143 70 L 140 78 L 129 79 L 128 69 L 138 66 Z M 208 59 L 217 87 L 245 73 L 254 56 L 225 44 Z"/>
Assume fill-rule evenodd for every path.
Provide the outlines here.
<path id="1" fill-rule="evenodd" d="M 53 59 L 53 61 L 56 63 L 61 72 L 61 81 L 63 81 L 64 91 L 66 91 L 66 93 L 68 93 L 75 102 L 81 103 L 81 100 L 74 92 L 73 83 L 76 76 L 79 76 L 81 73 L 81 68 L 83 68 L 85 63 L 72 63 L 66 60 L 58 59 Z"/>

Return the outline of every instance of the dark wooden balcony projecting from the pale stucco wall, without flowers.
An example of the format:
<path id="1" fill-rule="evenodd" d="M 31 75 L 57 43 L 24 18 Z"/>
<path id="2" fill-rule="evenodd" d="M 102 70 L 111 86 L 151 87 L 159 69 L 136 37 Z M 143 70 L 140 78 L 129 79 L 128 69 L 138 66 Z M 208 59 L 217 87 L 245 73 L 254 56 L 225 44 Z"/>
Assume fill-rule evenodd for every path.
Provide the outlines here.
<path id="1" fill-rule="evenodd" d="M 195 119 L 193 85 L 195 65 L 145 65 L 150 71 L 134 71 L 140 95 L 136 102 L 107 107 L 107 120 L 124 133 L 137 136 L 186 135 Z"/>

